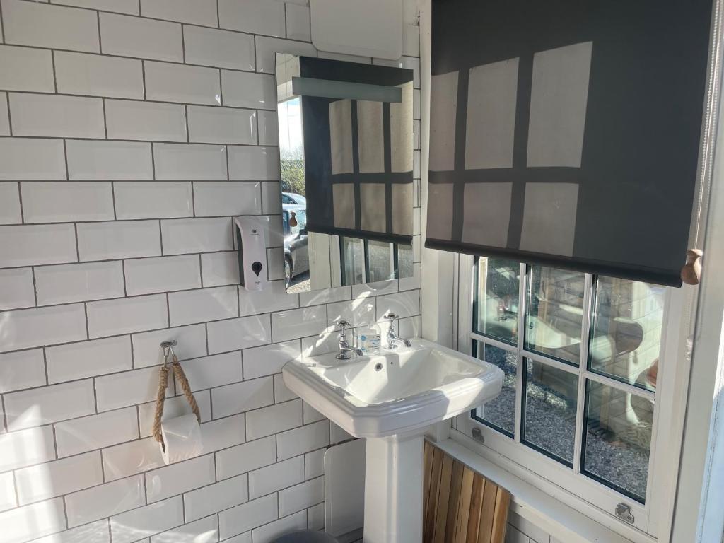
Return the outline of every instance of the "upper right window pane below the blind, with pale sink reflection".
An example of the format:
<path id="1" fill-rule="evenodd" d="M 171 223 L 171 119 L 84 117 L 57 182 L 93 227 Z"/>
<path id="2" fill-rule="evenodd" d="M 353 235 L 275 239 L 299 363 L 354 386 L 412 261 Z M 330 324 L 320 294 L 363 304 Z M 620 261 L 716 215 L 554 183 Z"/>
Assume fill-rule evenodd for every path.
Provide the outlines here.
<path id="1" fill-rule="evenodd" d="M 593 308 L 589 368 L 656 389 L 665 287 L 599 277 Z"/>

